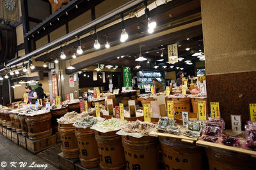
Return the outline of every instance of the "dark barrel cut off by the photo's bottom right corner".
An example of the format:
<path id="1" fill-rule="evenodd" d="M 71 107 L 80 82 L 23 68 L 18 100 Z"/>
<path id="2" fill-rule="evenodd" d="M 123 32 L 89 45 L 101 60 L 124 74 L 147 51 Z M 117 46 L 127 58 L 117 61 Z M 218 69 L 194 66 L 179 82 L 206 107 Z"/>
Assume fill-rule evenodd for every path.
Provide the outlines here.
<path id="1" fill-rule="evenodd" d="M 256 158 L 251 155 L 223 150 L 220 148 L 205 148 L 209 169 L 255 169 Z"/>

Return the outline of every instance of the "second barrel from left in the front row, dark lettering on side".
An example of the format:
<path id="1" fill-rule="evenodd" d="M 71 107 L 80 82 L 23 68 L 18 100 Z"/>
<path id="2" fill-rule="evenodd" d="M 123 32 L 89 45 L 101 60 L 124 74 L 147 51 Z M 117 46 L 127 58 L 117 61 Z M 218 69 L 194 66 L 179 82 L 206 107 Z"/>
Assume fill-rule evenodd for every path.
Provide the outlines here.
<path id="1" fill-rule="evenodd" d="M 90 127 L 86 129 L 76 127 L 76 138 L 80 152 L 79 159 L 81 165 L 86 168 L 98 167 L 100 157 L 95 140 L 95 130 L 90 129 Z"/>

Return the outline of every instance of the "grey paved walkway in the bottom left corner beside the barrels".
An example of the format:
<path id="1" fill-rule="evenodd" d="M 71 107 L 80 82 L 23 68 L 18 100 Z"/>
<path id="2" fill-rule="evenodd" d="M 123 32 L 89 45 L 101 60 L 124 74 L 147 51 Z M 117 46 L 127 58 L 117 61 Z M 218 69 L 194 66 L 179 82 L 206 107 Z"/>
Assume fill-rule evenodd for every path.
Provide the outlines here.
<path id="1" fill-rule="evenodd" d="M 46 162 L 41 157 L 38 157 L 38 155 L 33 155 L 2 135 L 0 135 L 0 155 L 0 169 L 58 169 L 51 162 Z M 24 167 L 20 167 L 22 163 Z"/>

